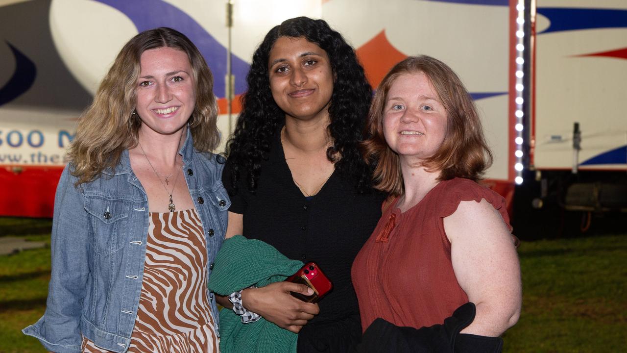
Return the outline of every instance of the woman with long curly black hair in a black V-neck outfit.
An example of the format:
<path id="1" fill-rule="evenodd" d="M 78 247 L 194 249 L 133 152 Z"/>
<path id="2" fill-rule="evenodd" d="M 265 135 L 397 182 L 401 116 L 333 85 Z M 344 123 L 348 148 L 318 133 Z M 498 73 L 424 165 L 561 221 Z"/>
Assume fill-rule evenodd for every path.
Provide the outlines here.
<path id="1" fill-rule="evenodd" d="M 270 30 L 247 81 L 223 173 L 232 202 L 226 237 L 315 261 L 334 288 L 312 304 L 290 295 L 311 295 L 307 286 L 282 281 L 221 303 L 244 321 L 260 315 L 298 333 L 298 352 L 347 352 L 361 338 L 350 265 L 383 199 L 358 148 L 372 89 L 342 35 L 306 17 Z"/>

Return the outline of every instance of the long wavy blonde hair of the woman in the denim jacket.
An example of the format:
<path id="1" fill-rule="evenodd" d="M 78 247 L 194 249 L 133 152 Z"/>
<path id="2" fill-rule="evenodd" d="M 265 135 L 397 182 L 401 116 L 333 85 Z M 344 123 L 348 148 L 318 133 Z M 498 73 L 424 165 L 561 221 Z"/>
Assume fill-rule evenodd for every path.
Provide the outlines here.
<path id="1" fill-rule="evenodd" d="M 77 185 L 99 178 L 104 170 L 114 170 L 122 151 L 137 146 L 141 120 L 132 113 L 140 58 L 146 50 L 163 47 L 187 53 L 191 63 L 196 106 L 188 124 L 194 148 L 207 152 L 218 146 L 218 104 L 213 94 L 213 75 L 203 55 L 189 38 L 172 28 L 143 31 L 124 45 L 98 87 L 92 104 L 78 119 L 76 136 L 68 152 L 72 175 L 78 178 Z"/>

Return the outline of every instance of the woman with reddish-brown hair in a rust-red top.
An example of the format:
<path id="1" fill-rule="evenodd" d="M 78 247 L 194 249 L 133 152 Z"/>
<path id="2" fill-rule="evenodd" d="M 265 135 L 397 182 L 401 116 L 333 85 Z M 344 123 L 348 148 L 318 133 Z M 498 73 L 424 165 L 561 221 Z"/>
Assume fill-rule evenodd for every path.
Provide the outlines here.
<path id="1" fill-rule="evenodd" d="M 357 255 L 362 352 L 499 352 L 520 314 L 505 200 L 479 185 L 492 163 L 473 101 L 445 63 L 409 57 L 372 100 L 366 160 L 389 193 Z"/>

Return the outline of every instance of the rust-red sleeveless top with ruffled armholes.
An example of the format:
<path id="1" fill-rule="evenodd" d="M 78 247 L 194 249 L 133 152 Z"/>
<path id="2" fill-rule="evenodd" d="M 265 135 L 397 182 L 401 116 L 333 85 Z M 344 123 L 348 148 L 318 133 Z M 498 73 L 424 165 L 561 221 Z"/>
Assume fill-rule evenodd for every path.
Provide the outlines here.
<path id="1" fill-rule="evenodd" d="M 383 203 L 381 219 L 351 271 L 362 330 L 377 317 L 416 329 L 443 323 L 468 302 L 453 271 L 443 219 L 461 201 L 484 198 L 509 226 L 505 199 L 463 178 L 438 183 L 406 212 L 396 207 L 398 197 Z"/>

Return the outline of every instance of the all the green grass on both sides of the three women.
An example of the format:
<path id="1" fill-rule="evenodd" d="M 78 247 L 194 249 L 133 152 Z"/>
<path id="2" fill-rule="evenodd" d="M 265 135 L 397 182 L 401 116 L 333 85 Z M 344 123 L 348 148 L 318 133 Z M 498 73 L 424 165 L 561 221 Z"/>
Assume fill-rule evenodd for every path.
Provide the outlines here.
<path id="1" fill-rule="evenodd" d="M 0 218 L 0 236 L 50 241 L 50 220 Z M 523 242 L 520 321 L 505 352 L 620 352 L 627 344 L 627 234 Z M 50 250 L 0 256 L 0 352 L 45 352 L 19 331 L 45 310 Z"/>

